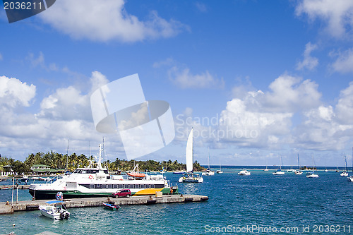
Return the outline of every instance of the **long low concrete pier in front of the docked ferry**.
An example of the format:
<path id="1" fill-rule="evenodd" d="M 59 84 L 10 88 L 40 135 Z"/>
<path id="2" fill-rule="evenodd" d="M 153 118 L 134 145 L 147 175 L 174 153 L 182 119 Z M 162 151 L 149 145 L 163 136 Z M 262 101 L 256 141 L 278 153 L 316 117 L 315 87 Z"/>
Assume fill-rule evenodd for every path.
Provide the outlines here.
<path id="1" fill-rule="evenodd" d="M 157 203 L 191 203 L 208 200 L 204 195 L 162 195 L 155 196 L 134 196 L 130 198 L 72 198 L 64 200 L 67 208 L 71 207 L 98 207 L 103 203 L 114 202 L 116 205 L 150 205 Z M 16 211 L 38 210 L 40 205 L 45 205 L 48 200 L 22 201 L 18 203 L 0 203 L 0 215 L 12 214 Z"/>

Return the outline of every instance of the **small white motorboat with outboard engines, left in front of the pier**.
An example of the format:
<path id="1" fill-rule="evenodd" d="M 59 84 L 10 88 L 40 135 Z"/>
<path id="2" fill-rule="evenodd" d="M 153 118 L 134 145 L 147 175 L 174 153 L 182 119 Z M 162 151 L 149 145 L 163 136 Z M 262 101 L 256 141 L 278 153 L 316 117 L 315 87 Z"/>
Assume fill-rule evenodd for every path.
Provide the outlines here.
<path id="1" fill-rule="evenodd" d="M 40 213 L 50 219 L 68 219 L 70 212 L 66 209 L 61 200 L 51 200 L 47 205 L 39 206 Z"/>

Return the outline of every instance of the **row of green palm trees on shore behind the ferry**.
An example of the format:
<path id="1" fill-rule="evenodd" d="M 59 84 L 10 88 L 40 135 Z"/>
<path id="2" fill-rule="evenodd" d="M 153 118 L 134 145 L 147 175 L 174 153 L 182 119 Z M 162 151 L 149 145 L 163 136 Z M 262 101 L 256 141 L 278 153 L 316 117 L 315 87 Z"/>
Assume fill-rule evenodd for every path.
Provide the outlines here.
<path id="1" fill-rule="evenodd" d="M 16 173 L 28 173 L 30 168 L 34 164 L 44 164 L 49 166 L 51 169 L 67 169 L 68 171 L 73 171 L 78 167 L 87 167 L 90 162 L 93 161 L 93 156 L 87 157 L 83 154 L 76 155 L 73 153 L 71 155 L 63 155 L 58 152 L 37 152 L 36 154 L 31 153 L 25 159 L 24 162 L 15 160 L 13 158 L 1 157 L 0 155 L 0 171 L 7 171 L 8 167 L 11 166 L 11 169 Z M 116 158 L 114 162 L 109 160 L 102 162 L 104 167 L 107 167 L 109 171 L 128 171 L 132 170 L 133 167 L 138 164 L 140 171 L 161 171 L 162 169 L 166 171 L 185 171 L 186 164 L 179 163 L 177 160 L 172 162 L 172 160 L 157 162 L 155 160 L 147 161 L 136 161 L 126 159 Z M 203 171 L 204 167 L 196 161 L 193 163 L 193 169 L 195 171 Z"/>

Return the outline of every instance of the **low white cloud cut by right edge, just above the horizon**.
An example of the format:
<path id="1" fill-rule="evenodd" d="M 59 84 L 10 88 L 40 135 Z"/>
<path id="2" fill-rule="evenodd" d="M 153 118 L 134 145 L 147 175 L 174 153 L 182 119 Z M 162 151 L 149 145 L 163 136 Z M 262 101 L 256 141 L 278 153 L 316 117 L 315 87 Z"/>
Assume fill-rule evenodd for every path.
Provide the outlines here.
<path id="1" fill-rule="evenodd" d="M 298 147 L 341 150 L 353 136 L 353 83 L 340 92 L 335 107 L 320 105 L 304 112 L 305 120 L 294 128 Z"/>

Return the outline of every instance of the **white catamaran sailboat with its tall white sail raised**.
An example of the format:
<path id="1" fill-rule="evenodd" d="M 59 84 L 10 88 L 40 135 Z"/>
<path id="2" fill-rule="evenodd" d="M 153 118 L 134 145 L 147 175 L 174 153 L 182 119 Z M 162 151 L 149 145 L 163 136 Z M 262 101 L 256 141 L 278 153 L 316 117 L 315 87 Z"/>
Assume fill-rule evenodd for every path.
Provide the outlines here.
<path id="1" fill-rule="evenodd" d="M 203 178 L 193 173 L 193 128 L 191 128 L 188 142 L 186 143 L 186 173 L 179 178 L 179 183 L 202 183 Z"/>

